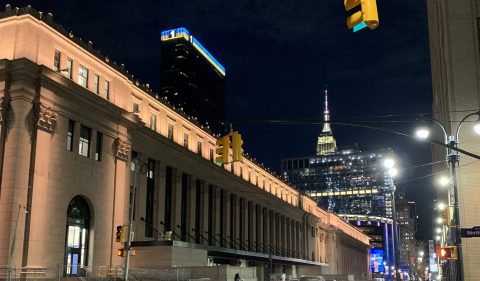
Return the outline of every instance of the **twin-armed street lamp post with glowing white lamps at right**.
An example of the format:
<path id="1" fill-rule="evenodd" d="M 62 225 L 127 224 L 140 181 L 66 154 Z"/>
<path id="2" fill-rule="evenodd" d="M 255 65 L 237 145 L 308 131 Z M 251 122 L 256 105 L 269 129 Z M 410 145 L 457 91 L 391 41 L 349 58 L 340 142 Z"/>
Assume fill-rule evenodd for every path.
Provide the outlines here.
<path id="1" fill-rule="evenodd" d="M 461 232 L 461 226 L 460 226 L 460 209 L 459 209 L 459 204 L 458 204 L 458 186 L 457 186 L 457 166 L 459 164 L 460 160 L 460 155 L 458 153 L 457 145 L 459 143 L 459 132 L 460 132 L 460 127 L 462 126 L 463 122 L 467 120 L 467 118 L 477 115 L 479 118 L 476 121 L 474 125 L 474 130 L 477 134 L 480 134 L 480 111 L 470 113 L 463 117 L 463 119 L 460 121 L 458 124 L 455 134 L 454 135 L 448 135 L 447 130 L 445 127 L 442 125 L 442 123 L 434 118 L 432 119 L 423 119 L 423 120 L 430 120 L 433 121 L 435 124 L 437 124 L 443 132 L 444 135 L 444 143 L 446 149 L 446 160 L 448 162 L 449 168 L 450 168 L 450 177 L 451 177 L 451 182 L 450 182 L 450 205 L 453 206 L 453 221 L 450 226 L 450 231 L 453 234 L 453 243 L 457 247 L 457 253 L 458 253 L 458 270 L 457 270 L 457 276 L 458 276 L 458 281 L 463 281 L 464 280 L 464 275 L 463 275 L 463 255 L 462 255 L 462 232 Z M 426 127 L 419 128 L 416 132 L 417 137 L 421 139 L 426 139 L 428 138 L 429 135 L 429 130 Z"/>

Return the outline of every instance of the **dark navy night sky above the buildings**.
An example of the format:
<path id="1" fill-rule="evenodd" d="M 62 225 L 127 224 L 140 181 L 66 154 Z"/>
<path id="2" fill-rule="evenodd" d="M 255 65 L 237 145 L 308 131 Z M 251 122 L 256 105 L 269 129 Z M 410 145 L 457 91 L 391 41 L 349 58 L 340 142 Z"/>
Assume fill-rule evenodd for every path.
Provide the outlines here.
<path id="1" fill-rule="evenodd" d="M 6 4 L 8 2 L 4 2 Z M 160 88 L 160 32 L 185 27 L 226 68 L 229 120 L 320 120 L 328 85 L 332 120 L 412 133 L 431 113 L 426 1 L 377 0 L 380 26 L 352 33 L 343 0 L 10 1 L 54 21 Z M 389 117 L 385 117 L 385 116 Z M 379 117 L 381 116 L 381 117 Z M 388 121 L 388 122 L 386 122 Z M 234 123 L 244 149 L 273 170 L 315 154 L 321 125 Z M 430 145 L 371 129 L 333 125 L 337 143 L 391 147 L 397 188 L 417 202 L 419 238 L 431 239 Z"/>

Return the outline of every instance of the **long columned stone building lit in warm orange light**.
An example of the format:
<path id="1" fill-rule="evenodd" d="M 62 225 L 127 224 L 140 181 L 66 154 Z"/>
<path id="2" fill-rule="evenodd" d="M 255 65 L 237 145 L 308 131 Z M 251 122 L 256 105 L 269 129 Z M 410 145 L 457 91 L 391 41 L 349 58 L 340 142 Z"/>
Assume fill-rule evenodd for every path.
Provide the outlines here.
<path id="1" fill-rule="evenodd" d="M 0 274 L 111 273 L 133 208 L 132 267 L 366 279 L 367 236 L 253 160 L 213 163 L 210 131 L 51 14 L 0 13 L 0 93 Z"/>

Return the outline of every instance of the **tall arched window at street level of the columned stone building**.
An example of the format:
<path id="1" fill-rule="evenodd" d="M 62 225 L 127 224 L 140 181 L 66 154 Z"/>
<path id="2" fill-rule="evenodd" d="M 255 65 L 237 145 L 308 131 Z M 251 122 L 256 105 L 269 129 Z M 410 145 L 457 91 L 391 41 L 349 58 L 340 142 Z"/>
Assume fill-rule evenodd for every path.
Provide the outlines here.
<path id="1" fill-rule="evenodd" d="M 67 235 L 65 243 L 65 274 L 83 276 L 88 261 L 88 235 L 90 208 L 81 196 L 75 196 L 67 210 Z"/>

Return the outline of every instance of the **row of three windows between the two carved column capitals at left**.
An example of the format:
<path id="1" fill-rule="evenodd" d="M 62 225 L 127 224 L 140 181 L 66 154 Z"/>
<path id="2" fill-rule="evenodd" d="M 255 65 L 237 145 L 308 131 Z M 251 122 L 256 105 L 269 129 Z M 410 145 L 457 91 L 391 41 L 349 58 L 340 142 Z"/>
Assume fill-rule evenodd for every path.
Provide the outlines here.
<path id="1" fill-rule="evenodd" d="M 67 131 L 67 150 L 73 152 L 73 140 L 75 133 L 76 122 L 74 120 L 68 120 L 68 131 Z M 102 144 L 103 144 L 103 134 L 97 132 L 95 143 L 95 155 L 94 159 L 96 161 L 102 161 Z M 92 129 L 80 124 L 80 135 L 78 142 L 78 154 L 84 157 L 90 158 L 92 145 Z"/>

